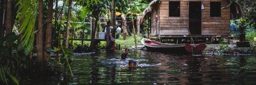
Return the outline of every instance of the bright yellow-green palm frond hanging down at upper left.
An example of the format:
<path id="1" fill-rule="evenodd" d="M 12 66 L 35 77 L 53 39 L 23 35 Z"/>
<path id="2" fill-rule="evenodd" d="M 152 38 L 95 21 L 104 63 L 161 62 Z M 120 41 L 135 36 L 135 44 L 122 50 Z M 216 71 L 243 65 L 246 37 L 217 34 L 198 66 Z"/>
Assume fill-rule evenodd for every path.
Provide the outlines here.
<path id="1" fill-rule="evenodd" d="M 21 4 L 21 5 L 20 5 Z M 35 39 L 35 21 L 37 19 L 37 0 L 19 0 L 16 6 L 20 5 L 19 20 L 26 17 L 20 26 L 19 33 L 23 33 L 22 42 L 18 46 L 18 50 L 25 48 L 25 54 L 28 55 L 33 50 L 33 43 Z"/>

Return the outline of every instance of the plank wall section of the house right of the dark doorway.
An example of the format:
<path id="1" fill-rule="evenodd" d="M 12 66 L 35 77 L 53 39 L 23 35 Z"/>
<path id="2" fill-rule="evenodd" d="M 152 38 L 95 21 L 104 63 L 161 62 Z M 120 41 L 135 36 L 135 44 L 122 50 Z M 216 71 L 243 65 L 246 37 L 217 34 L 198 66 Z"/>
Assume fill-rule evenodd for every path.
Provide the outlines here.
<path id="1" fill-rule="evenodd" d="M 227 0 L 209 0 L 221 2 L 221 7 L 227 6 Z M 230 8 L 221 10 L 221 17 L 210 17 L 210 2 L 203 1 L 202 10 L 202 35 L 230 35 Z"/>

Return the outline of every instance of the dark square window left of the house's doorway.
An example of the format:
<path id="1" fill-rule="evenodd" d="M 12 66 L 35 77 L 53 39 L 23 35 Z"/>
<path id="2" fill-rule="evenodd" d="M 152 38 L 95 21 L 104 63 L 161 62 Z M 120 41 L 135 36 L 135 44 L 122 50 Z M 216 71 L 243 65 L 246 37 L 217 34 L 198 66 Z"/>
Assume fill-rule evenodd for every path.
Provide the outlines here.
<path id="1" fill-rule="evenodd" d="M 180 17 L 180 2 L 169 2 L 169 17 Z"/>

